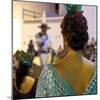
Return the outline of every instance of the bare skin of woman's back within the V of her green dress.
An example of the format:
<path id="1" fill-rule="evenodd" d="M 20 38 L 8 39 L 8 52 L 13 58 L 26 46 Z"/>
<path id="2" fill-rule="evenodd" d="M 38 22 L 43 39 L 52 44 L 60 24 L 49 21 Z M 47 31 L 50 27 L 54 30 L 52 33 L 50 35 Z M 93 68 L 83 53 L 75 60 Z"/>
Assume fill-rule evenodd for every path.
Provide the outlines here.
<path id="1" fill-rule="evenodd" d="M 91 62 L 87 63 L 86 60 L 82 60 L 82 62 L 77 64 L 71 62 L 70 65 L 66 64 L 66 66 L 63 66 L 62 64 L 60 66 L 54 66 L 58 73 L 70 84 L 74 91 L 76 91 L 77 94 L 82 94 L 92 79 L 95 70 L 94 64 Z"/>

